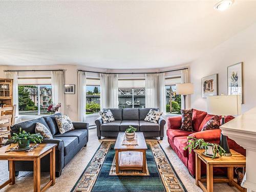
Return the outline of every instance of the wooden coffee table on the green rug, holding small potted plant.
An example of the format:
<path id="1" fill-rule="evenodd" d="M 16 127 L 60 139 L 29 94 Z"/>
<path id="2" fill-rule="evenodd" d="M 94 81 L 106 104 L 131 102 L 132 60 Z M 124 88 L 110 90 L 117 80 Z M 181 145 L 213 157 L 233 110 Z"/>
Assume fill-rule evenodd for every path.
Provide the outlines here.
<path id="1" fill-rule="evenodd" d="M 143 133 L 136 133 L 138 145 L 122 145 L 124 133 L 119 133 L 115 144 L 116 174 L 119 170 L 142 170 L 146 173 L 146 141 Z"/>

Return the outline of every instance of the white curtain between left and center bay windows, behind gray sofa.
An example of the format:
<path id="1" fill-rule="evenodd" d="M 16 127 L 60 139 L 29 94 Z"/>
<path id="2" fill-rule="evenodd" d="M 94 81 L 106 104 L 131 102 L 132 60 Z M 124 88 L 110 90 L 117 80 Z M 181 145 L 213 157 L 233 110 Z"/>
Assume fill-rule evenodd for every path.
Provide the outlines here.
<path id="1" fill-rule="evenodd" d="M 100 74 L 100 110 L 118 108 L 118 75 Z"/>

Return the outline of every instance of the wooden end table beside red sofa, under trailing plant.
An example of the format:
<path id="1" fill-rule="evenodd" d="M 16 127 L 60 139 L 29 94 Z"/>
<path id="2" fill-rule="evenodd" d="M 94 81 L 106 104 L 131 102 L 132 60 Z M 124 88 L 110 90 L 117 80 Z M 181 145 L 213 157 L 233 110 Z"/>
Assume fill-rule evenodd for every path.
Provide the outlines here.
<path id="1" fill-rule="evenodd" d="M 232 156 L 226 157 L 218 157 L 215 159 L 211 159 L 210 157 L 204 156 L 202 153 L 205 150 L 194 150 L 196 154 L 196 185 L 200 186 L 205 192 L 214 191 L 214 182 L 216 183 L 228 183 L 229 186 L 235 186 L 240 191 L 245 192 L 246 189 L 241 187 L 237 182 L 233 179 L 233 171 L 234 167 L 245 167 L 246 160 L 245 156 L 240 153 L 230 150 Z M 206 179 L 201 179 L 201 161 L 206 164 Z M 213 168 L 214 167 L 227 167 L 228 173 L 227 178 L 214 178 L 213 176 Z M 207 183 L 207 187 L 204 186 L 202 182 Z"/>

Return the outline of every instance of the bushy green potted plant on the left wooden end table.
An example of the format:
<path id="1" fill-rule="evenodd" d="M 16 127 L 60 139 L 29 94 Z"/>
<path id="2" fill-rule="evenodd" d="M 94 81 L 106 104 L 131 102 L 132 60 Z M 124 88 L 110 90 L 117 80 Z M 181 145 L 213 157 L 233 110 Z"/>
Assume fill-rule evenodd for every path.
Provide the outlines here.
<path id="1" fill-rule="evenodd" d="M 40 143 L 42 141 L 42 136 L 40 134 L 30 134 L 26 131 L 22 131 L 22 128 L 19 129 L 19 133 L 13 133 L 11 139 L 7 142 L 9 143 L 18 143 L 18 148 L 28 148 L 30 142 Z"/>

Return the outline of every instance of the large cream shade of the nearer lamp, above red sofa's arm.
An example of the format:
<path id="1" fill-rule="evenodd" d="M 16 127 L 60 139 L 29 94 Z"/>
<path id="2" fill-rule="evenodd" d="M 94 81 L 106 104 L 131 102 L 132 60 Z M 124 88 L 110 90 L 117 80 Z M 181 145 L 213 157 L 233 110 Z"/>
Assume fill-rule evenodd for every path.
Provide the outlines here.
<path id="1" fill-rule="evenodd" d="M 212 115 L 240 115 L 240 95 L 219 95 L 207 97 L 207 113 Z"/>

